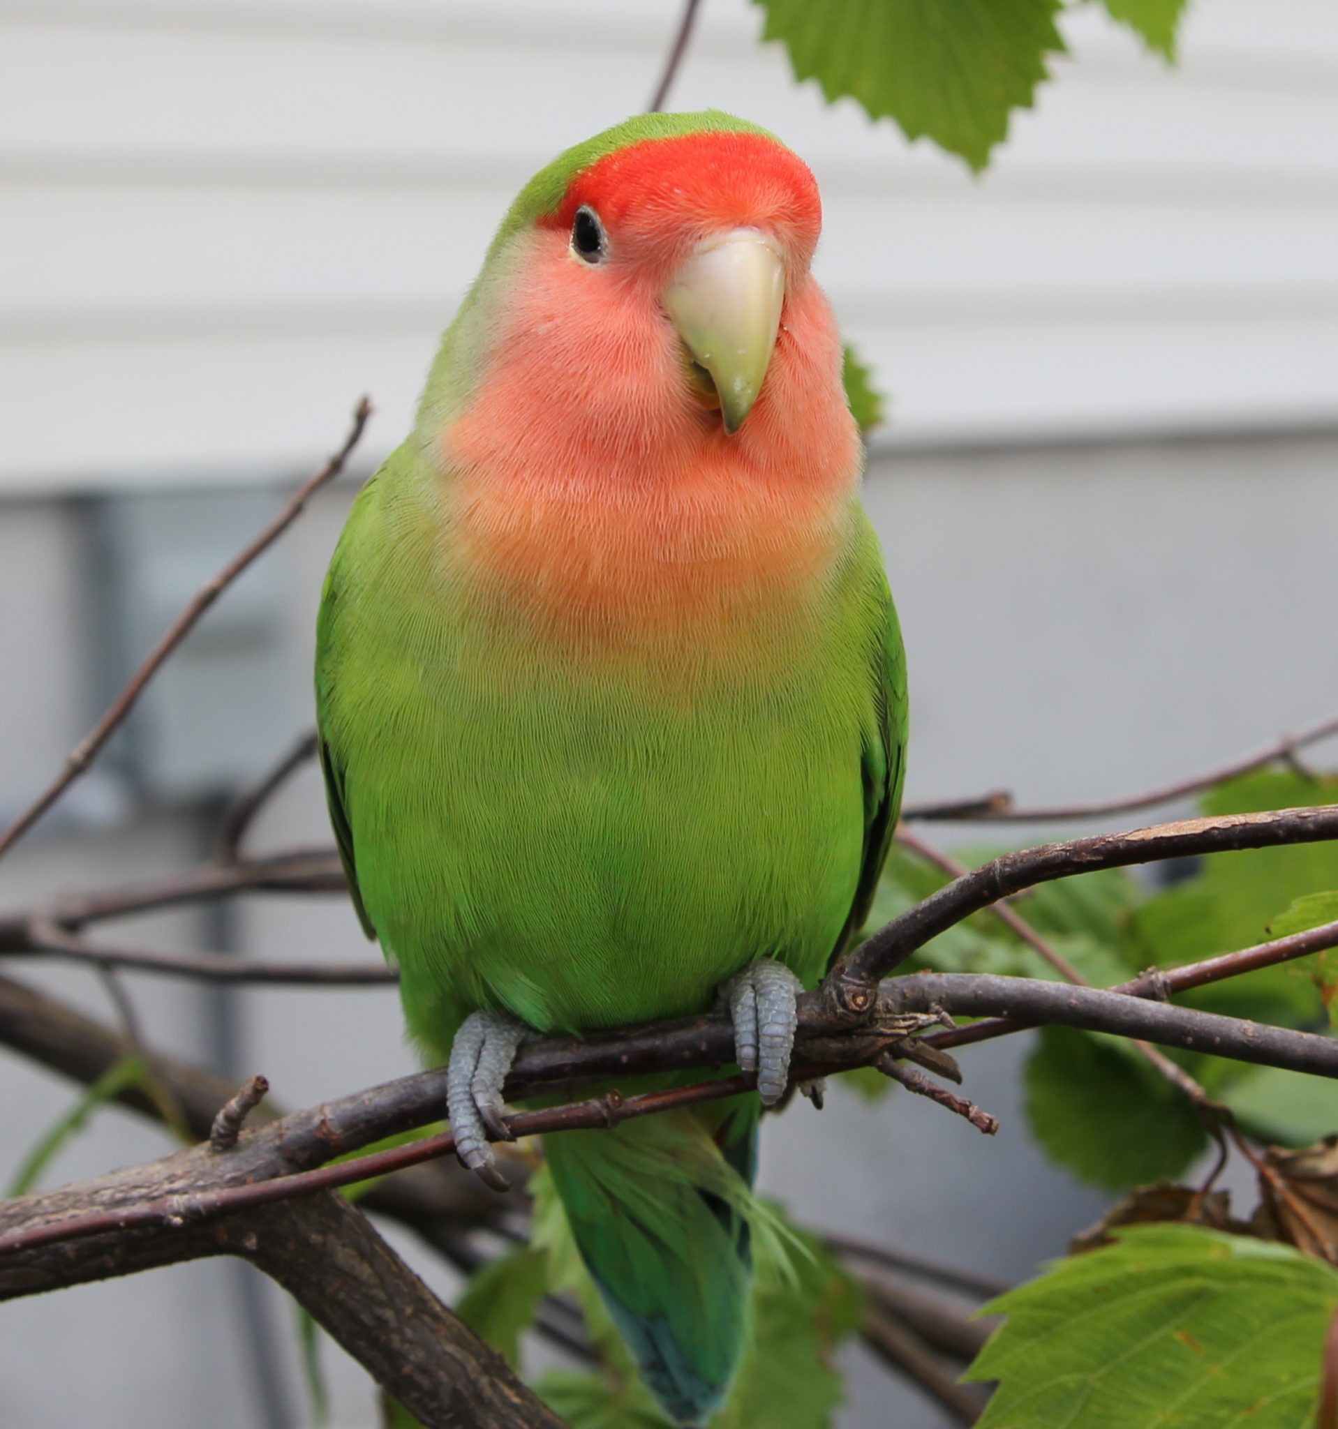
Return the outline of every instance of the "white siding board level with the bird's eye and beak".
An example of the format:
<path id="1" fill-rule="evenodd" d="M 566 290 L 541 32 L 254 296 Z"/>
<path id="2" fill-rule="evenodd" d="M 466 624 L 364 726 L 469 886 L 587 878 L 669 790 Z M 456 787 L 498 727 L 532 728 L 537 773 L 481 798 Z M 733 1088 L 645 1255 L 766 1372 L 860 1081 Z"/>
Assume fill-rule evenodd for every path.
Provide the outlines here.
<path id="1" fill-rule="evenodd" d="M 462 193 L 0 189 L 0 332 L 14 317 L 219 303 L 422 303 L 442 319 L 510 199 Z M 1338 293 L 1338 204 L 829 200 L 818 273 L 833 292 L 1025 310 L 1088 296 L 1166 303 L 1247 284 L 1252 302 Z"/>

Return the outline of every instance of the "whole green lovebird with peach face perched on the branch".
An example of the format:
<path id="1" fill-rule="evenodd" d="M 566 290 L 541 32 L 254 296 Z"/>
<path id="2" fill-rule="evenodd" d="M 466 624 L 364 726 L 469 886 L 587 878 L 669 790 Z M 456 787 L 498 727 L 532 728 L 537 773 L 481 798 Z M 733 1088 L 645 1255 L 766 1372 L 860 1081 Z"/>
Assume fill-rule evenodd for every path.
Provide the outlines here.
<path id="1" fill-rule="evenodd" d="M 543 169 L 353 504 L 317 627 L 349 887 L 467 1166 L 499 1183 L 530 1030 L 729 1009 L 759 1096 L 545 1145 L 683 1425 L 748 1343 L 762 1106 L 798 993 L 865 922 L 905 766 L 821 221 L 803 161 L 719 111 Z"/>

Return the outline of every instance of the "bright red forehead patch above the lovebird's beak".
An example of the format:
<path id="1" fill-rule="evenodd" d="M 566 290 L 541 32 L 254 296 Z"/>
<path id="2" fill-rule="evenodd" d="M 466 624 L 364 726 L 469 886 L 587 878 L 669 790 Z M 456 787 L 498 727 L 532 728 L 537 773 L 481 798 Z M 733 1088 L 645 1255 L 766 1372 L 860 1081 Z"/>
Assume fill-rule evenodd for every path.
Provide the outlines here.
<path id="1" fill-rule="evenodd" d="M 570 227 L 582 204 L 612 233 L 768 224 L 791 229 L 798 244 L 811 249 L 822 226 L 808 164 L 776 140 L 749 133 L 646 139 L 606 154 L 576 174 L 545 226 Z"/>

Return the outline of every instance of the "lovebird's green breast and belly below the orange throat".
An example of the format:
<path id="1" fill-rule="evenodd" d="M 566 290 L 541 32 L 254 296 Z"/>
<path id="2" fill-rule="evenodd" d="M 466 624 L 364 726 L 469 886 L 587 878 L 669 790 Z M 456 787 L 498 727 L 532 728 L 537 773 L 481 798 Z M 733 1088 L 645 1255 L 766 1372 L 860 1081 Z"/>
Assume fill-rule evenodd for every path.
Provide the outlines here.
<path id="1" fill-rule="evenodd" d="M 762 956 L 816 982 L 865 853 L 876 546 L 770 632 L 768 673 L 736 653 L 689 690 L 467 599 L 443 619 L 385 586 L 403 554 L 336 559 L 319 686 L 417 1035 L 445 1046 L 479 1006 L 572 1032 L 686 1015 Z"/>

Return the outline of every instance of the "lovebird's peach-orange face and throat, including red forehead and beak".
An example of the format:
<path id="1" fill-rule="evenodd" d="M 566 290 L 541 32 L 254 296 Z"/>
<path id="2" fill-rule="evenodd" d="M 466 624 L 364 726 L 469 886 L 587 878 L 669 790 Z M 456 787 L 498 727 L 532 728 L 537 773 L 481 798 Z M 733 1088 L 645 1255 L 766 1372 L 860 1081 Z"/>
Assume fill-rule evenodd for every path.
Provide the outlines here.
<path id="1" fill-rule="evenodd" d="M 583 629 L 812 579 L 861 469 L 819 226 L 812 174 L 762 136 L 649 140 L 578 174 L 515 240 L 442 433 L 462 546 Z"/>

